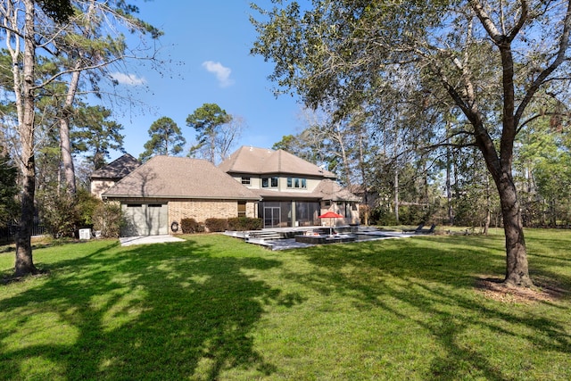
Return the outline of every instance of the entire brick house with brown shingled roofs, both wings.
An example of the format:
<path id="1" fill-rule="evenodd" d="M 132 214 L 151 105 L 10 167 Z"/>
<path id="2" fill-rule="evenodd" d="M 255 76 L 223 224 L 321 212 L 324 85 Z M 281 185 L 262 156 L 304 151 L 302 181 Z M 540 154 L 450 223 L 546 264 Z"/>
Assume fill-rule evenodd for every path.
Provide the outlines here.
<path id="1" fill-rule="evenodd" d="M 243 146 L 215 167 L 210 162 L 155 156 L 102 193 L 121 204 L 126 236 L 180 233 L 181 219 L 261 218 L 264 228 L 316 226 L 335 211 L 338 225 L 359 222 L 359 197 L 335 174 L 282 150 Z"/>

